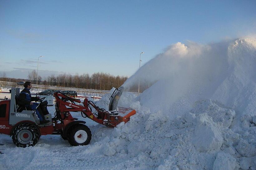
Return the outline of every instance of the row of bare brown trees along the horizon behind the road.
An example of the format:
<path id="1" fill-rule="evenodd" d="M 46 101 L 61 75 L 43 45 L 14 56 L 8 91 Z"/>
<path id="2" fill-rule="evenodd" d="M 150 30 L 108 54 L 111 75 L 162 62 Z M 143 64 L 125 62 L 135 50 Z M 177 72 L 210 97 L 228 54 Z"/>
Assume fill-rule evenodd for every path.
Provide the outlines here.
<path id="1" fill-rule="evenodd" d="M 30 81 L 32 84 L 36 84 L 37 72 L 36 70 L 29 71 L 27 79 L 16 79 L 7 78 L 5 72 L 0 72 L 0 81 L 9 82 L 20 82 L 20 81 Z M 71 88 L 81 88 L 81 89 L 95 89 L 95 90 L 110 90 L 112 87 L 120 87 L 128 79 L 127 76 L 113 76 L 109 73 L 97 72 L 89 75 L 89 73 L 84 73 L 82 75 L 75 74 L 60 74 L 55 76 L 47 76 L 42 78 L 38 75 L 38 85 L 47 86 L 57 86 L 57 87 L 71 87 Z M 149 88 L 155 82 L 140 82 L 140 93 Z M 130 92 L 138 92 L 138 82 L 134 82 L 130 85 Z"/>

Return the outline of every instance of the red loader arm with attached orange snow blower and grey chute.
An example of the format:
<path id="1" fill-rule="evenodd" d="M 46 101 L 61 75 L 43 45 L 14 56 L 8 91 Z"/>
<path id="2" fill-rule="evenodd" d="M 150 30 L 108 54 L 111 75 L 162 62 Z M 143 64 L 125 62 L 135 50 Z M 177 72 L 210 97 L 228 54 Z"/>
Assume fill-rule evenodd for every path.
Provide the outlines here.
<path id="1" fill-rule="evenodd" d="M 121 122 L 128 122 L 130 117 L 136 113 L 135 110 L 130 108 L 117 107 L 118 100 L 122 93 L 123 87 L 116 89 L 110 97 L 109 110 L 105 110 L 104 108 L 99 108 L 94 104 L 93 101 L 89 101 L 87 98 L 84 100 L 83 105 L 76 104 L 81 103 L 81 101 L 79 99 L 70 98 L 60 92 L 56 92 L 54 93 L 56 99 L 56 115 L 58 117 L 58 115 L 65 115 L 61 113 L 70 115 L 69 112 L 81 112 L 82 117 L 88 117 L 93 121 L 105 126 L 116 127 Z M 92 108 L 94 108 L 97 113 L 93 113 Z M 69 119 L 66 120 L 67 123 L 69 123 Z"/>

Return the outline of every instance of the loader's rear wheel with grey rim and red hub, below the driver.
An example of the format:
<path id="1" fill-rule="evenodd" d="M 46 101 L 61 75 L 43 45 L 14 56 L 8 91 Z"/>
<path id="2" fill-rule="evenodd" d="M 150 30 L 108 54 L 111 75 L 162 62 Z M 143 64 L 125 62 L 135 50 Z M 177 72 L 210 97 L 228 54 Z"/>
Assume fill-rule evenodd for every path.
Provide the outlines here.
<path id="1" fill-rule="evenodd" d="M 36 127 L 26 123 L 15 127 L 12 133 L 12 141 L 17 147 L 34 146 L 39 138 Z"/>

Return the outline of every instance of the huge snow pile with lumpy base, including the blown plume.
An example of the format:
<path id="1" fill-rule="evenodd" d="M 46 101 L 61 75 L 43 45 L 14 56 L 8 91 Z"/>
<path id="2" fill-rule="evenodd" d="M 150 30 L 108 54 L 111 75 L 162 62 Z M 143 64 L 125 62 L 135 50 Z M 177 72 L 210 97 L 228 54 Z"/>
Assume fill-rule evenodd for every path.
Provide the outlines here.
<path id="1" fill-rule="evenodd" d="M 255 39 L 170 46 L 124 83 L 153 85 L 121 97 L 137 114 L 114 129 L 115 154 L 134 158 L 126 168 L 140 160 L 153 169 L 255 169 L 255 65 Z"/>

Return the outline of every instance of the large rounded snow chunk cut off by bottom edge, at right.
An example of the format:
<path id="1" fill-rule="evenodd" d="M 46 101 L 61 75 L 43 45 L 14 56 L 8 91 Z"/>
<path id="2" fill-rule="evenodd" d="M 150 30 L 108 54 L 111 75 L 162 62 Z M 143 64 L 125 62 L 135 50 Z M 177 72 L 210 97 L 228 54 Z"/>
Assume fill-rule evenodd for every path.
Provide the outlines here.
<path id="1" fill-rule="evenodd" d="M 236 167 L 236 159 L 230 154 L 219 152 L 213 163 L 213 170 L 233 170 Z"/>

